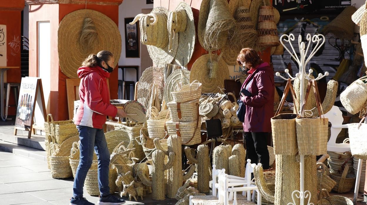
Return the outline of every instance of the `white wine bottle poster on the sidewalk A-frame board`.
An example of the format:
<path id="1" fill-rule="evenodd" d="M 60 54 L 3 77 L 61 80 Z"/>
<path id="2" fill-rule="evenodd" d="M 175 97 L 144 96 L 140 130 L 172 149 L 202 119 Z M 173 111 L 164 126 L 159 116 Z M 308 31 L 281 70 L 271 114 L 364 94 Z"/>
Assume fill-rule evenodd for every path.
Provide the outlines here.
<path id="1" fill-rule="evenodd" d="M 15 126 L 31 128 L 38 78 L 22 78 Z"/>

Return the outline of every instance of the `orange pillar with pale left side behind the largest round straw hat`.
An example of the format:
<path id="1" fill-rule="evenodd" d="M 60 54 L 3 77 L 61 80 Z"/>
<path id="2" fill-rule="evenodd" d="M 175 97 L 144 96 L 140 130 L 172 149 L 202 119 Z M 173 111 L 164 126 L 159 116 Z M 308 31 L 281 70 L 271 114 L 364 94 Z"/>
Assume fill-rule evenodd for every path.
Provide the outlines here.
<path id="1" fill-rule="evenodd" d="M 58 60 L 57 31 L 59 22 L 70 12 L 84 9 L 83 4 L 43 4 L 30 6 L 29 12 L 29 76 L 37 76 L 37 21 L 50 21 L 51 26 L 51 93 L 50 93 L 50 113 L 54 120 L 68 120 L 68 100 L 66 95 L 66 77 L 61 72 Z M 119 20 L 119 6 L 117 5 L 93 5 L 88 4 L 87 9 L 102 12 L 111 18 L 116 25 Z M 109 78 L 111 99 L 117 98 L 118 91 L 118 69 L 115 69 Z"/>

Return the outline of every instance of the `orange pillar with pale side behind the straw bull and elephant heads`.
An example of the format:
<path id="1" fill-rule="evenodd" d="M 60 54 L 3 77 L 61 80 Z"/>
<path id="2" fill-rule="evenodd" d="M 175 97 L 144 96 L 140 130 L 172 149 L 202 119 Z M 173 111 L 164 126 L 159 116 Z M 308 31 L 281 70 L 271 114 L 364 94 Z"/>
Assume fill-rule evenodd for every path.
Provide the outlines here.
<path id="1" fill-rule="evenodd" d="M 201 47 L 197 37 L 197 23 L 199 21 L 199 10 L 202 0 L 160 0 L 160 1 L 154 1 L 154 7 L 162 6 L 168 8 L 168 10 L 174 10 L 177 7 L 177 5 L 182 1 L 191 6 L 194 15 L 194 23 L 196 29 L 195 50 L 188 64 L 188 69 L 190 70 L 192 64 L 196 61 L 196 59 L 198 59 L 201 55 L 208 53 L 203 47 Z M 264 62 L 270 62 L 270 48 L 267 48 L 264 52 L 260 53 L 260 56 L 264 60 Z"/>

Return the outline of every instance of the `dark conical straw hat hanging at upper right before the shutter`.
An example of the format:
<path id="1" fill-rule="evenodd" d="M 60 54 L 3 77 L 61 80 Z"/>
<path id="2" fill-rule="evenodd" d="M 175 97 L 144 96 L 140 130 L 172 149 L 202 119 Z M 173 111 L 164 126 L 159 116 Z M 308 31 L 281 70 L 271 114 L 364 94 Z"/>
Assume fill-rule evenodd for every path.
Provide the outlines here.
<path id="1" fill-rule="evenodd" d="M 333 34 L 339 39 L 352 40 L 354 36 L 354 23 L 352 15 L 357 11 L 356 7 L 346 7 L 333 21 L 324 27 L 323 33 Z"/>

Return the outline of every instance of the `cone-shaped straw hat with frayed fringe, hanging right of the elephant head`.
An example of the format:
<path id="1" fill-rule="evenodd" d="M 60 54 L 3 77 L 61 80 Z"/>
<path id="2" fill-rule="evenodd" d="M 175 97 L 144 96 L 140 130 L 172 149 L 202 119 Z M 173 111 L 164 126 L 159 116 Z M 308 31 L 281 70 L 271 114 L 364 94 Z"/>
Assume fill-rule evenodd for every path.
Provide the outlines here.
<path id="1" fill-rule="evenodd" d="M 223 48 L 228 32 L 235 23 L 235 19 L 230 15 L 227 0 L 201 1 L 197 25 L 200 45 L 207 51 Z"/>

